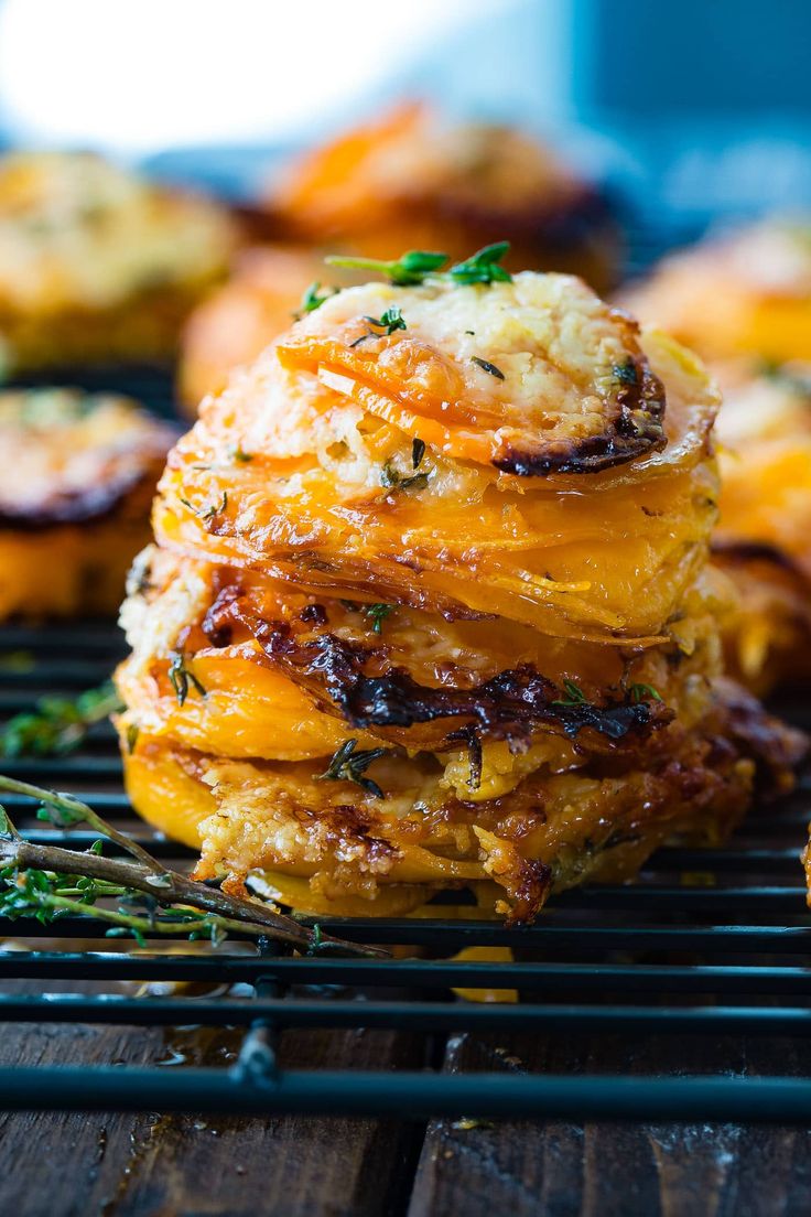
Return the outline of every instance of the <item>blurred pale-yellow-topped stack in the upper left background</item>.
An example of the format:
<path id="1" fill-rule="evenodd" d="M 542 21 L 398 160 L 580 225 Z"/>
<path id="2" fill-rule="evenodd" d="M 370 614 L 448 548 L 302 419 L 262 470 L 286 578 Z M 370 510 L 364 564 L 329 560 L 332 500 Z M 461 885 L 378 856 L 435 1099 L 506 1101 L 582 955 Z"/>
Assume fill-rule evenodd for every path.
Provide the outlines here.
<path id="1" fill-rule="evenodd" d="M 235 240 L 219 203 L 101 157 L 4 157 L 4 369 L 168 358 L 191 308 L 225 275 Z"/>

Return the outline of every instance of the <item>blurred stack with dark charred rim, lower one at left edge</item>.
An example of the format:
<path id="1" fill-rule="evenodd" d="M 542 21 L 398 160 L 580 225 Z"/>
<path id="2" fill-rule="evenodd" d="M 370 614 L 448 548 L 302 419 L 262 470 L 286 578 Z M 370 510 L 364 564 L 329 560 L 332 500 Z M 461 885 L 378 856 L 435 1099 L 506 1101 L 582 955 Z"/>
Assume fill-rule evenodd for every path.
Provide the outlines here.
<path id="1" fill-rule="evenodd" d="M 116 612 L 176 436 L 129 398 L 0 393 L 0 619 Z"/>

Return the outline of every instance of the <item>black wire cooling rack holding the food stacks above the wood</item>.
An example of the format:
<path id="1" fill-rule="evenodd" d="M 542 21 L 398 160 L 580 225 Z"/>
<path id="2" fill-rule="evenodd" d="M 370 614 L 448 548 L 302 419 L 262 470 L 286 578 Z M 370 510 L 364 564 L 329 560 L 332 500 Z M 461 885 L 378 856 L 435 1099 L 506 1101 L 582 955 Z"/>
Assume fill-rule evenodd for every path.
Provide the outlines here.
<path id="1" fill-rule="evenodd" d="M 0 713 L 43 692 L 100 683 L 123 650 L 112 624 L 0 630 Z M 120 785 L 112 729 L 96 728 L 78 753 L 0 763 L 26 780 L 71 790 L 179 869 L 192 854 L 156 837 L 131 812 Z M 23 835 L 85 847 L 92 834 L 44 826 L 32 804 L 4 800 Z M 799 848 L 809 785 L 779 808 L 753 814 L 728 847 L 666 849 L 638 882 L 557 898 L 539 922 L 387 919 L 321 921 L 345 938 L 399 948 L 385 960 L 297 958 L 229 940 L 219 949 L 165 942 L 125 952 L 92 921 L 40 927 L 0 921 L 0 1021 L 238 1028 L 236 1061 L 223 1067 L 58 1065 L 0 1069 L 0 1109 L 218 1112 L 322 1112 L 427 1118 L 548 1116 L 582 1120 L 674 1118 L 811 1122 L 811 1081 L 796 1077 L 691 1076 L 702 1041 L 720 1036 L 811 1033 L 811 920 Z M 22 937 L 24 935 L 24 937 Z M 47 949 L 38 940 L 47 938 Z M 64 950 L 53 949 L 58 940 Z M 81 941 L 83 949 L 74 949 Z M 511 947 L 514 963 L 452 957 L 466 947 Z M 24 949 L 21 949 L 24 948 Z M 411 948 L 411 949 L 407 949 Z M 16 982 L 34 981 L 19 993 Z M 164 982 L 163 996 L 136 985 Z M 193 981 L 203 996 L 167 996 Z M 13 982 L 13 983 L 10 983 Z M 58 993 L 49 991 L 57 983 Z M 92 983 L 90 983 L 92 982 Z M 209 996 L 205 988 L 210 986 Z M 219 988 L 218 988 L 219 986 Z M 512 988 L 518 1000 L 475 1003 L 458 988 Z M 123 989 L 123 992 L 122 992 Z M 148 988 L 147 988 L 148 994 Z M 568 1037 L 683 1037 L 683 1076 L 551 1076 L 522 1072 L 287 1070 L 277 1065 L 285 1028 L 400 1028 L 444 1042 L 450 1033 L 533 1032 Z M 236 1032 L 235 1032 L 236 1033 Z M 426 1059 L 432 1059 L 427 1053 Z M 433 1053 L 441 1059 L 441 1051 Z"/>

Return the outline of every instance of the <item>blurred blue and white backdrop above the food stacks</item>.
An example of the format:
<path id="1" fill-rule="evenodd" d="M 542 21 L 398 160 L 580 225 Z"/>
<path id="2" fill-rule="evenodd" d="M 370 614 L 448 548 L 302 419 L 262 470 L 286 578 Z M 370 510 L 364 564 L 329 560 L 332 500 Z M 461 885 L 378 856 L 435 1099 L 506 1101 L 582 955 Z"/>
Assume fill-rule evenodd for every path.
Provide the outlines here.
<path id="1" fill-rule="evenodd" d="M 401 96 L 551 136 L 671 228 L 811 207 L 802 0 L 2 0 L 6 144 L 247 194 Z"/>

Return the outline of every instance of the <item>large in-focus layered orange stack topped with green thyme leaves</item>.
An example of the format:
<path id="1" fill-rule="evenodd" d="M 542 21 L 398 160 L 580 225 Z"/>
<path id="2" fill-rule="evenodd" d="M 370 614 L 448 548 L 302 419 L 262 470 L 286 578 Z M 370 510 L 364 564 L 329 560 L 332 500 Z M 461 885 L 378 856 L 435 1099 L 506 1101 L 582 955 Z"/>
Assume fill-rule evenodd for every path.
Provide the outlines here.
<path id="1" fill-rule="evenodd" d="M 170 454 L 119 729 L 198 876 L 529 921 L 723 837 L 761 755 L 789 781 L 798 739 L 720 678 L 716 391 L 581 281 L 496 260 L 332 296 Z"/>

